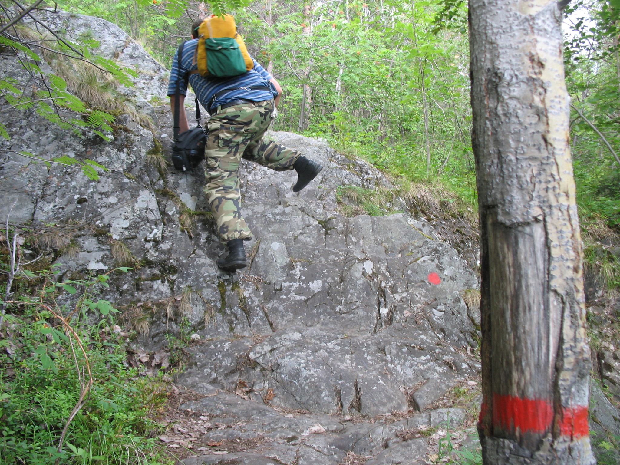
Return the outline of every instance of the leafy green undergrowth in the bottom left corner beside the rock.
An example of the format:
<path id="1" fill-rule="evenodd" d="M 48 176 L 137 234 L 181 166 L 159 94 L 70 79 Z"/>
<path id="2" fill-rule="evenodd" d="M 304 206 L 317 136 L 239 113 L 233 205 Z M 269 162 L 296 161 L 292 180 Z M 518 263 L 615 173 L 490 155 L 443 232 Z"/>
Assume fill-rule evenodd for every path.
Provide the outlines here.
<path id="1" fill-rule="evenodd" d="M 20 272 L 0 330 L 3 465 L 172 463 L 155 437 L 166 389 L 127 365 L 127 339 L 110 329 L 118 311 L 98 296 L 126 271 L 84 280 L 62 280 L 58 268 Z"/>

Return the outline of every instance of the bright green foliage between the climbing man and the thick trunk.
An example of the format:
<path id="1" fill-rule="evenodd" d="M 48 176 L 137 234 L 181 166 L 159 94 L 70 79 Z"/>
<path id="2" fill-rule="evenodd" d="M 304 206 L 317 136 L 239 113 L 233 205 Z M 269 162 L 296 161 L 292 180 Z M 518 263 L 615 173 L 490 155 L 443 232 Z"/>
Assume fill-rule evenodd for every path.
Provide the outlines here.
<path id="1" fill-rule="evenodd" d="M 433 33 L 440 8 L 267 2 L 272 26 L 238 14 L 252 52 L 284 89 L 275 129 L 325 138 L 394 177 L 439 177 L 474 204 L 467 39 L 459 30 Z"/>

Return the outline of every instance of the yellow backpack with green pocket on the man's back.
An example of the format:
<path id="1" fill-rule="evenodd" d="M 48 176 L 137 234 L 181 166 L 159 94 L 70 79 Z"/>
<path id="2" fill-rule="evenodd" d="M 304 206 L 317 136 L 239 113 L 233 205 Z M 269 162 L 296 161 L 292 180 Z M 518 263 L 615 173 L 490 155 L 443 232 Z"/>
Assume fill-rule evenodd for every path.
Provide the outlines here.
<path id="1" fill-rule="evenodd" d="M 198 47 L 194 62 L 203 78 L 239 76 L 254 68 L 254 61 L 247 53 L 246 44 L 237 34 L 232 15 L 223 18 L 211 15 L 198 27 Z"/>

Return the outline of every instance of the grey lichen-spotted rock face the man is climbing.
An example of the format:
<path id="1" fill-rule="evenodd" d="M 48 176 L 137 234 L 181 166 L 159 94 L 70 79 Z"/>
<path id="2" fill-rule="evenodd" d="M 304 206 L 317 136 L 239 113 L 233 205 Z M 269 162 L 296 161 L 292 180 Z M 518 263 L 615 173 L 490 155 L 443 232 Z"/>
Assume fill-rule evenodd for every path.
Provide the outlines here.
<path id="1" fill-rule="evenodd" d="M 255 235 L 246 243 L 250 265 L 221 272 L 215 260 L 224 247 L 205 213 L 201 167 L 180 174 L 160 163 L 169 154 L 172 123 L 168 107 L 149 101 L 164 98 L 166 70 L 104 20 L 67 14 L 55 20 L 76 34 L 91 31 L 104 56 L 138 68 L 135 87 L 120 90 L 153 117 L 156 130 L 122 115 L 107 143 L 29 114 L 11 115 L 4 123 L 12 139 L 1 149 L 90 158 L 109 171 L 94 181 L 9 154 L 1 166 L 0 188 L 8 193 L 0 219 L 9 215 L 41 237 L 56 237 L 60 245 L 49 257 L 66 276 L 139 263 L 114 275 L 102 298 L 124 309 L 126 324 L 141 331 L 136 343 L 148 350 L 166 348 L 166 335 L 192 334 L 178 383 L 207 397 L 184 408 L 245 422 L 244 431 L 226 430 L 233 436 L 272 441 L 237 454 L 236 463 L 336 464 L 347 452 L 376 455 L 368 464 L 423 462 L 427 440 L 403 443 L 396 433 L 436 426 L 445 411 L 433 404 L 479 374 L 469 355 L 479 314 L 463 301 L 477 280 L 464 260 L 425 220 L 407 213 L 343 216 L 339 186 L 389 186 L 387 179 L 323 141 L 272 133 L 325 169 L 296 194 L 294 172 L 243 162 L 242 211 Z M 2 64 L 3 73 L 19 78 L 14 58 Z M 291 411 L 302 413 L 282 413 Z M 392 412 L 406 418 L 389 426 L 339 421 Z M 463 412 L 453 417 L 462 420 Z M 303 436 L 314 423 L 325 435 Z M 210 433 L 213 440 L 217 434 Z"/>

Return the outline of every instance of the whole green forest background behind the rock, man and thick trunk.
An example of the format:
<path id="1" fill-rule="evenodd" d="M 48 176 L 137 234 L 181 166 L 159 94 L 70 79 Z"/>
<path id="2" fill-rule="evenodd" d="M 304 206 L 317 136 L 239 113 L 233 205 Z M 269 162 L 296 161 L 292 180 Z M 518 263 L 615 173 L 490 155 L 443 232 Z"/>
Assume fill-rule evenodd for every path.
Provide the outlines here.
<path id="1" fill-rule="evenodd" d="M 230 10 L 231 5 L 226 7 Z M 61 0 L 122 27 L 170 65 L 218 2 Z M 260 0 L 233 8 L 250 53 L 284 89 L 274 130 L 327 139 L 394 179 L 397 192 L 343 192 L 371 215 L 427 185 L 476 221 L 467 6 L 463 0 Z M 565 9 L 570 137 L 588 265 L 620 289 L 620 2 Z"/>

